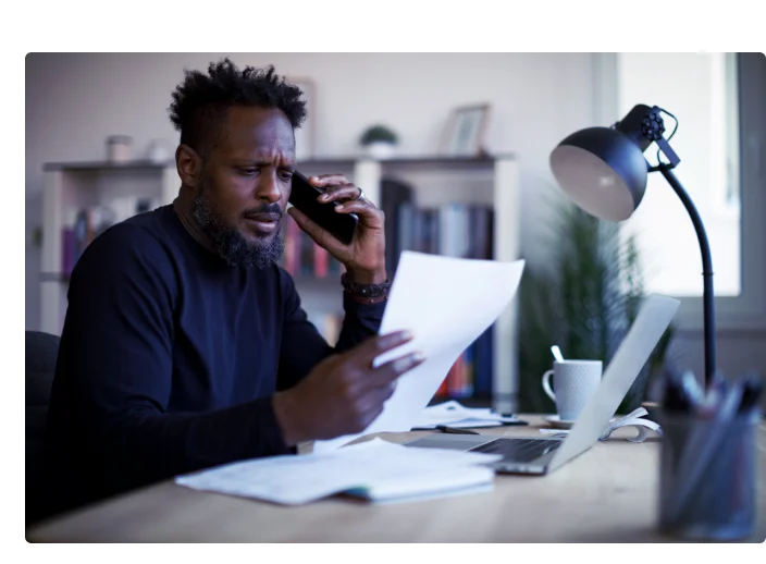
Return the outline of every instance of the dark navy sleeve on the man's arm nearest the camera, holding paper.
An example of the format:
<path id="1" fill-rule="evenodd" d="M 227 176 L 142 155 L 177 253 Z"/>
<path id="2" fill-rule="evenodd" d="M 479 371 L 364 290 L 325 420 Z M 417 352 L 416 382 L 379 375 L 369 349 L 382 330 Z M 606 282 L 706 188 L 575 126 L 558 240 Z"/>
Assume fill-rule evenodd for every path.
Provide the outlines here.
<path id="1" fill-rule="evenodd" d="M 73 273 L 49 432 L 97 495 L 288 452 L 270 396 L 168 413 L 178 299 L 168 249 L 133 225 L 99 236 Z"/>

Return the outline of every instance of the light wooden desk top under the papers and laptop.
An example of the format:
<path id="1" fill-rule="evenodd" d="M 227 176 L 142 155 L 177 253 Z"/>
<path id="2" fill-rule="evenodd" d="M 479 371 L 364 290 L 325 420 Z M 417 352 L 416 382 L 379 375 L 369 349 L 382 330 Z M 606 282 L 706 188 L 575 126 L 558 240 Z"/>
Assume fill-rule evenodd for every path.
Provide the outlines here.
<path id="1" fill-rule="evenodd" d="M 539 437 L 530 427 L 482 429 Z M 766 545 L 766 424 L 758 431 L 757 531 Z M 391 505 L 328 499 L 299 507 L 198 492 L 172 481 L 32 529 L 32 547 L 690 548 L 655 531 L 659 444 L 621 429 L 544 477 L 497 476 L 494 491 Z M 388 433 L 401 442 L 427 431 Z M 708 544 L 708 548 L 711 545 Z"/>

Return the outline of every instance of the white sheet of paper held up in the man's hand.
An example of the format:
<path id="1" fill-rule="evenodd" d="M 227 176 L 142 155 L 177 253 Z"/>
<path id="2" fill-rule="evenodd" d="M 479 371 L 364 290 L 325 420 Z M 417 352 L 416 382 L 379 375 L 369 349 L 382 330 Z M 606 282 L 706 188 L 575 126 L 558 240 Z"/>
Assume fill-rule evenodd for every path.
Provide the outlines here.
<path id="1" fill-rule="evenodd" d="M 383 413 L 363 432 L 317 441 L 314 452 L 338 449 L 363 434 L 415 427 L 455 360 L 508 307 L 523 267 L 523 260 L 403 252 L 380 333 L 407 329 L 413 339 L 378 356 L 373 365 L 412 351 L 422 351 L 425 361 L 399 378 Z"/>

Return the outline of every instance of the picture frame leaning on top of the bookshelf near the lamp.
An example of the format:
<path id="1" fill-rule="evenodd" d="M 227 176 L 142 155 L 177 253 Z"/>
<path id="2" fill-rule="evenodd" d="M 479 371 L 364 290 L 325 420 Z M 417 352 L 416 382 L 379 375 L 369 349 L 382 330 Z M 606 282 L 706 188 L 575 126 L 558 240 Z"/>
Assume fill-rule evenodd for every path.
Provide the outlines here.
<path id="1" fill-rule="evenodd" d="M 448 157 L 481 157 L 486 154 L 489 103 L 455 108 L 440 143 L 440 155 Z"/>

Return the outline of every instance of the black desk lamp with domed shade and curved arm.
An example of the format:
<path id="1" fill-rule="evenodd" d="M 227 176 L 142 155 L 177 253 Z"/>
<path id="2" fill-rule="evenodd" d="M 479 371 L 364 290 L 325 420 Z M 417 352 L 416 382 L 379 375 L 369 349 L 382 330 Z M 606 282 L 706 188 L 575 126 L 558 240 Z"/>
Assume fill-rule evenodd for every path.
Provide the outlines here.
<path id="1" fill-rule="evenodd" d="M 711 247 L 702 219 L 691 198 L 674 175 L 672 169 L 680 162 L 676 152 L 663 137 L 665 124 L 662 113 L 678 120 L 658 107 L 638 105 L 620 122 L 611 127 L 588 127 L 572 133 L 551 154 L 551 169 L 561 189 L 589 213 L 608 221 L 628 219 L 641 204 L 646 189 L 646 176 L 659 171 L 670 184 L 694 224 L 702 252 L 702 275 L 704 282 L 704 339 L 705 339 L 705 388 L 709 387 L 715 372 L 715 326 L 713 320 L 713 267 Z M 659 147 L 656 167 L 651 167 L 643 152 L 652 143 Z M 659 151 L 669 162 L 659 160 Z"/>

